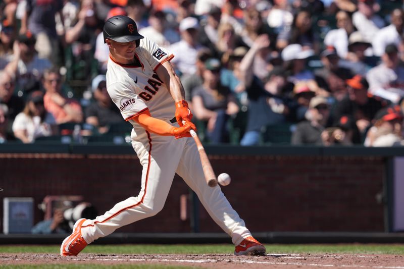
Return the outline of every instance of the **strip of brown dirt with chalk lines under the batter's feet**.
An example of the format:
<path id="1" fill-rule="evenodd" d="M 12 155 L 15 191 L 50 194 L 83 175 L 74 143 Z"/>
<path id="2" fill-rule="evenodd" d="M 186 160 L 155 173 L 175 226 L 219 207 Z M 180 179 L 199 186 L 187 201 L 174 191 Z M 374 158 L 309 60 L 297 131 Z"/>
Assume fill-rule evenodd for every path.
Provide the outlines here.
<path id="1" fill-rule="evenodd" d="M 351 254 L 269 254 L 234 256 L 232 254 L 1 254 L 0 264 L 161 264 L 201 268 L 389 268 L 404 269 L 404 255 Z"/>

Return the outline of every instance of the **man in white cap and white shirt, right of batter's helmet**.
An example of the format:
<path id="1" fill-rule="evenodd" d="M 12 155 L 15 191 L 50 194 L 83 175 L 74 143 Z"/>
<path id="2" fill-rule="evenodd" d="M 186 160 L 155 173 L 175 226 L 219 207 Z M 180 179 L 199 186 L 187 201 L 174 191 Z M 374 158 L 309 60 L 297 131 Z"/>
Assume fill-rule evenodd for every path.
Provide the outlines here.
<path id="1" fill-rule="evenodd" d="M 196 18 L 187 17 L 183 19 L 179 26 L 181 40 L 169 47 L 170 51 L 175 55 L 171 63 L 182 74 L 196 72 L 197 51 L 203 47 L 197 41 L 198 29 L 199 22 Z"/>

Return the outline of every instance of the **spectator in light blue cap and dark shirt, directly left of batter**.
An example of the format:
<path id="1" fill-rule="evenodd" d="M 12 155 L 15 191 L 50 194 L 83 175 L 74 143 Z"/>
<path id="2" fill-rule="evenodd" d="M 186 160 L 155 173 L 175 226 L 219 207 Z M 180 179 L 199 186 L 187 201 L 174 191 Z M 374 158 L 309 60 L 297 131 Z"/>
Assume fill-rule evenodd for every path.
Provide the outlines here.
<path id="1" fill-rule="evenodd" d="M 98 75 L 91 82 L 95 102 L 86 109 L 85 122 L 96 127 L 99 134 L 108 132 L 109 125 L 121 123 L 122 116 L 107 92 L 105 75 Z"/>

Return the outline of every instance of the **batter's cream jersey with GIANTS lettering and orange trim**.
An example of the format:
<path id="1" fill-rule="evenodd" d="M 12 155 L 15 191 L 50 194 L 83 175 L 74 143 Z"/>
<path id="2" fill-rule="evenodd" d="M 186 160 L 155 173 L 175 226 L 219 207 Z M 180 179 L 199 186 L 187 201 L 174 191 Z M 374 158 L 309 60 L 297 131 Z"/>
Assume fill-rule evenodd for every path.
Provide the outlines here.
<path id="1" fill-rule="evenodd" d="M 107 90 L 119 107 L 125 121 L 130 121 L 147 108 L 151 116 L 170 120 L 175 114 L 175 105 L 169 90 L 155 70 L 174 56 L 150 39 L 140 39 L 135 50 L 140 66 L 129 66 L 108 60 Z M 135 127 L 142 128 L 134 121 Z"/>

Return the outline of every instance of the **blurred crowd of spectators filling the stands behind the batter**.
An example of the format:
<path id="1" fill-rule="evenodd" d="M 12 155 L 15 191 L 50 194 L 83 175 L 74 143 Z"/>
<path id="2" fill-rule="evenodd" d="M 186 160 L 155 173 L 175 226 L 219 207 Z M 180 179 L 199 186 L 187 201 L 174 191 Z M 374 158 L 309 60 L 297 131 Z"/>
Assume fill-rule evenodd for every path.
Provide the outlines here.
<path id="1" fill-rule="evenodd" d="M 0 143 L 127 130 L 105 81 L 116 15 L 174 54 L 205 142 L 404 145 L 394 0 L 2 0 Z"/>

